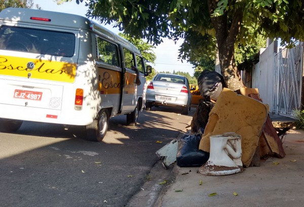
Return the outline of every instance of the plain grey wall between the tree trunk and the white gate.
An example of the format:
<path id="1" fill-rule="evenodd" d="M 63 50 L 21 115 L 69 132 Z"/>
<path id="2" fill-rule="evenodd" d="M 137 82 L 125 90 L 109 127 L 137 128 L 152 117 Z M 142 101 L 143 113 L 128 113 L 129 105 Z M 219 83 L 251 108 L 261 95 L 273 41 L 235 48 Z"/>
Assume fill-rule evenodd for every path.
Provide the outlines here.
<path id="1" fill-rule="evenodd" d="M 277 49 L 278 42 L 273 41 L 266 49 L 261 50 L 259 62 L 252 68 L 252 88 L 258 88 L 260 98 L 269 105 L 270 112 L 273 112 L 273 68 Z"/>

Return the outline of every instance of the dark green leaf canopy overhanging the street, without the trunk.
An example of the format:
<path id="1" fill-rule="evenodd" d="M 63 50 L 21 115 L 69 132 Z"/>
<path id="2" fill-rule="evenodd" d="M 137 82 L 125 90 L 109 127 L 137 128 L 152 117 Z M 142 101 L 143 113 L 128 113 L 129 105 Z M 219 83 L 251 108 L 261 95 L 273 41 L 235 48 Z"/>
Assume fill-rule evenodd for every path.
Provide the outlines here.
<path id="1" fill-rule="evenodd" d="M 72 0 L 57 0 L 57 4 L 70 1 Z M 83 2 L 75 1 L 78 4 Z M 89 7 L 88 17 L 99 19 L 103 23 L 116 22 L 121 31 L 154 44 L 160 44 L 164 37 L 186 38 L 191 32 L 209 36 L 208 40 L 213 38 L 209 42 L 214 42 L 218 31 L 214 28 L 212 18 L 226 18 L 229 28 L 232 24 L 238 24 L 234 22 L 234 17 L 240 14 L 242 25 L 236 43 L 248 44 L 248 41 L 255 38 L 255 34 L 245 36 L 248 26 L 254 26 L 255 33 L 265 31 L 267 37 L 282 38 L 283 43 L 292 43 L 292 38 L 304 39 L 304 29 L 300 24 L 304 16 L 301 0 L 210 1 L 211 6 L 215 7 L 211 15 L 208 3 L 192 0 L 91 0 L 86 5 Z"/>

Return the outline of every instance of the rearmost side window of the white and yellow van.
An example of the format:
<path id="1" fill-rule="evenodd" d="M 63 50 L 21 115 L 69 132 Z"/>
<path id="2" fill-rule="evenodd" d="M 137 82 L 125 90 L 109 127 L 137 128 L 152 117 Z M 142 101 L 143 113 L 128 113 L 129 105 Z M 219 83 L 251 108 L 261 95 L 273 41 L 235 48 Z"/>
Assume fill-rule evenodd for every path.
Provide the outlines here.
<path id="1" fill-rule="evenodd" d="M 98 61 L 119 66 L 118 48 L 115 44 L 109 43 L 101 38 L 97 38 Z"/>

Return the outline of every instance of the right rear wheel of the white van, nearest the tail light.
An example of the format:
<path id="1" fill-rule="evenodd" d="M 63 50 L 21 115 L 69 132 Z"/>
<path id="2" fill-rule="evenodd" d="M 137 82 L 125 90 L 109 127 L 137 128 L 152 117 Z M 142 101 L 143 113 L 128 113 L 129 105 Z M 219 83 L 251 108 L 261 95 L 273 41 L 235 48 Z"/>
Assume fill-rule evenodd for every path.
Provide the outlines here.
<path id="1" fill-rule="evenodd" d="M 109 115 L 106 109 L 102 109 L 93 123 L 86 126 L 86 140 L 101 142 L 108 128 Z"/>

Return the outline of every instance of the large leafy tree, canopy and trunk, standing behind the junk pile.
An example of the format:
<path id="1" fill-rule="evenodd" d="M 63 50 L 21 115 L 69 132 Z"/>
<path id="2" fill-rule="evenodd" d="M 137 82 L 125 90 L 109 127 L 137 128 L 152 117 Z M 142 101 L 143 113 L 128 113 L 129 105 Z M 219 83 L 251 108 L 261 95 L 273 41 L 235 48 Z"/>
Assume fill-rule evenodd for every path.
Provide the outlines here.
<path id="1" fill-rule="evenodd" d="M 60 0 L 64 1 L 70 0 Z M 88 17 L 115 22 L 131 37 L 153 44 L 162 43 L 165 37 L 184 38 L 179 57 L 196 65 L 202 58 L 212 59 L 217 44 L 223 77 L 235 85 L 233 89 L 242 86 L 235 67 L 235 46 L 241 46 L 242 54 L 254 53 L 246 46 L 254 45 L 258 34 L 281 38 L 290 47 L 295 40 L 304 41 L 302 0 L 90 0 L 86 5 Z"/>

